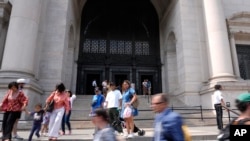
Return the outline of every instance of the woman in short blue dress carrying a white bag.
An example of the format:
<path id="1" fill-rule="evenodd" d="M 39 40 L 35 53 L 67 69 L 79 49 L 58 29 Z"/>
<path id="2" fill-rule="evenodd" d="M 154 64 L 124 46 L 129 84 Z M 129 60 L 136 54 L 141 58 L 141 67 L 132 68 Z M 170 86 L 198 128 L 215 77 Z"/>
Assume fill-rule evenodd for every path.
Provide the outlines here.
<path id="1" fill-rule="evenodd" d="M 134 116 L 138 115 L 138 111 L 135 107 L 132 106 L 132 104 L 136 101 L 137 95 L 135 93 L 135 90 L 131 88 L 130 81 L 124 80 L 122 83 L 122 111 L 121 111 L 121 118 L 125 120 L 126 123 L 126 129 L 128 132 L 127 138 L 133 138 L 134 134 Z M 131 108 L 132 113 L 128 113 L 125 111 L 125 109 Z"/>

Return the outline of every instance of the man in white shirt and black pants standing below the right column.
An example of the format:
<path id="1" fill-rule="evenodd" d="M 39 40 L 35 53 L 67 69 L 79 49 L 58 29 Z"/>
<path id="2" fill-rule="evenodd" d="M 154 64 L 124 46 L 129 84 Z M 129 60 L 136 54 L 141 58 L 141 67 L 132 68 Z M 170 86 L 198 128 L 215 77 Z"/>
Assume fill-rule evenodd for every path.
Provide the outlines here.
<path id="1" fill-rule="evenodd" d="M 214 100 L 214 108 L 216 111 L 216 121 L 217 121 L 218 129 L 221 130 L 223 128 L 222 105 L 225 106 L 225 102 L 223 100 L 223 97 L 221 96 L 221 90 L 222 90 L 221 85 L 215 85 L 214 89 L 215 89 L 215 92 L 213 95 L 213 98 L 214 98 L 213 100 Z"/>

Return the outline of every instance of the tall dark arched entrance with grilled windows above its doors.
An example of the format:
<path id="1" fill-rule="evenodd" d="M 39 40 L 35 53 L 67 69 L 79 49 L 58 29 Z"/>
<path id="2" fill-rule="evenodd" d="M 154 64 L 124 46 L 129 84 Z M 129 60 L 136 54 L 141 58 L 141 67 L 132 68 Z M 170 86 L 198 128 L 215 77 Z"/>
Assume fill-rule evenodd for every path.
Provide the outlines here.
<path id="1" fill-rule="evenodd" d="M 152 93 L 161 91 L 159 21 L 150 0 L 88 0 L 81 19 L 78 94 L 89 94 L 93 79 L 128 79 L 141 94 L 146 77 Z"/>

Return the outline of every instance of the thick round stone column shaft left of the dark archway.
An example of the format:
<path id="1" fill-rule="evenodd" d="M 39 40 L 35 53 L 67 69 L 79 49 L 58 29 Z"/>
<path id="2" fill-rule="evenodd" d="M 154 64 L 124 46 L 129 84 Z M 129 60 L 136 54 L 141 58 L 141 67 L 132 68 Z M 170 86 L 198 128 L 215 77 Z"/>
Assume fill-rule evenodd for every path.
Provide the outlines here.
<path id="1" fill-rule="evenodd" d="M 41 0 L 13 1 L 0 76 L 34 77 Z"/>

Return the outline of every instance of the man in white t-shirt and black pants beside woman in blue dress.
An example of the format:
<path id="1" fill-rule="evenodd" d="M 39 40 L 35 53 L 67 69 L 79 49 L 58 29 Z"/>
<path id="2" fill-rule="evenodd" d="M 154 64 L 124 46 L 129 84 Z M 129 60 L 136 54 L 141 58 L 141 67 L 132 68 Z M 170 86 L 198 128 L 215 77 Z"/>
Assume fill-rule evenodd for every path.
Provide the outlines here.
<path id="1" fill-rule="evenodd" d="M 116 89 L 114 82 L 109 82 L 108 88 L 110 90 L 107 94 L 105 102 L 106 107 L 108 108 L 110 124 L 116 131 L 119 132 L 119 134 L 123 134 L 121 122 L 119 120 L 119 109 L 122 104 L 122 94 Z"/>

